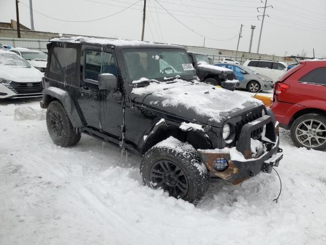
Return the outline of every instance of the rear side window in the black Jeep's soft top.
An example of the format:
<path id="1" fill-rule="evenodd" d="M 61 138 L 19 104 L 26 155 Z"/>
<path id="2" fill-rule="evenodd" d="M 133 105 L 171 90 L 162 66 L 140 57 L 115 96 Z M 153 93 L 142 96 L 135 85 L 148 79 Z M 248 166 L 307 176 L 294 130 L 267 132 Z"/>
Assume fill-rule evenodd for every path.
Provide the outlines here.
<path id="1" fill-rule="evenodd" d="M 73 47 L 53 47 L 49 52 L 49 75 L 59 82 L 78 84 L 77 50 Z"/>

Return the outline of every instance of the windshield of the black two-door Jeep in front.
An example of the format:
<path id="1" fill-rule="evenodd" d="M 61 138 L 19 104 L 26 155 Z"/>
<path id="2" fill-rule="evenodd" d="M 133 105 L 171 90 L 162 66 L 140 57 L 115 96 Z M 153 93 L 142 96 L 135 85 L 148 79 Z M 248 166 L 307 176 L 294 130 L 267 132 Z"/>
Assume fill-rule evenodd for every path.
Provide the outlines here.
<path id="1" fill-rule="evenodd" d="M 130 49 L 123 59 L 131 81 L 141 78 L 164 81 L 164 78 L 195 77 L 195 70 L 184 50 L 171 48 Z"/>

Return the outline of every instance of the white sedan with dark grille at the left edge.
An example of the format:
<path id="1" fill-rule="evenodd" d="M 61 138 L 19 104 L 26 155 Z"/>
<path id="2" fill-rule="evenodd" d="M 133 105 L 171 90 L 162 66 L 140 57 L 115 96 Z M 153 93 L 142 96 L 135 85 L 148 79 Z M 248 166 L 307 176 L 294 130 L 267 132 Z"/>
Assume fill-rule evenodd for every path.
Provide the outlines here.
<path id="1" fill-rule="evenodd" d="M 41 97 L 43 74 L 20 56 L 0 50 L 0 99 Z"/>

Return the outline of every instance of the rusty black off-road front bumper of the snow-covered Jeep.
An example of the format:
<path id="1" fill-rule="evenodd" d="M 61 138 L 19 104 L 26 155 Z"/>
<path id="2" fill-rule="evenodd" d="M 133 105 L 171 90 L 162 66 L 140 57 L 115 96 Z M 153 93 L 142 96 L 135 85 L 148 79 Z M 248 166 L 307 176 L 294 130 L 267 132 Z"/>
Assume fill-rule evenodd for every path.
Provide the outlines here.
<path id="1" fill-rule="evenodd" d="M 265 151 L 257 158 L 252 158 L 251 132 L 264 127 L 260 141 Z M 271 173 L 273 166 L 278 166 L 283 158 L 282 149 L 279 148 L 279 128 L 273 114 L 262 116 L 249 122 L 241 129 L 236 148 L 198 150 L 213 177 L 220 177 L 234 185 L 258 175 L 261 171 Z M 226 160 L 227 167 L 216 170 L 216 162 Z"/>

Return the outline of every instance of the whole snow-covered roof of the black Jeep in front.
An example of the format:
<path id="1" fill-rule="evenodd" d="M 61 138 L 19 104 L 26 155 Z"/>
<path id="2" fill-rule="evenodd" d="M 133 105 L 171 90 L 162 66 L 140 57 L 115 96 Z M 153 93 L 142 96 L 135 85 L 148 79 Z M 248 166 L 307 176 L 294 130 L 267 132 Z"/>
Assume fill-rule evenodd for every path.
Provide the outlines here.
<path id="1" fill-rule="evenodd" d="M 182 48 L 182 46 L 171 45 L 171 44 L 157 44 L 154 42 L 145 42 L 145 41 L 137 41 L 137 40 L 112 40 L 106 38 L 95 38 L 95 37 L 55 37 L 51 38 L 49 42 L 69 42 L 69 43 L 91 43 L 98 45 L 106 45 L 106 46 L 120 46 L 120 47 L 170 47 L 170 48 Z"/>

